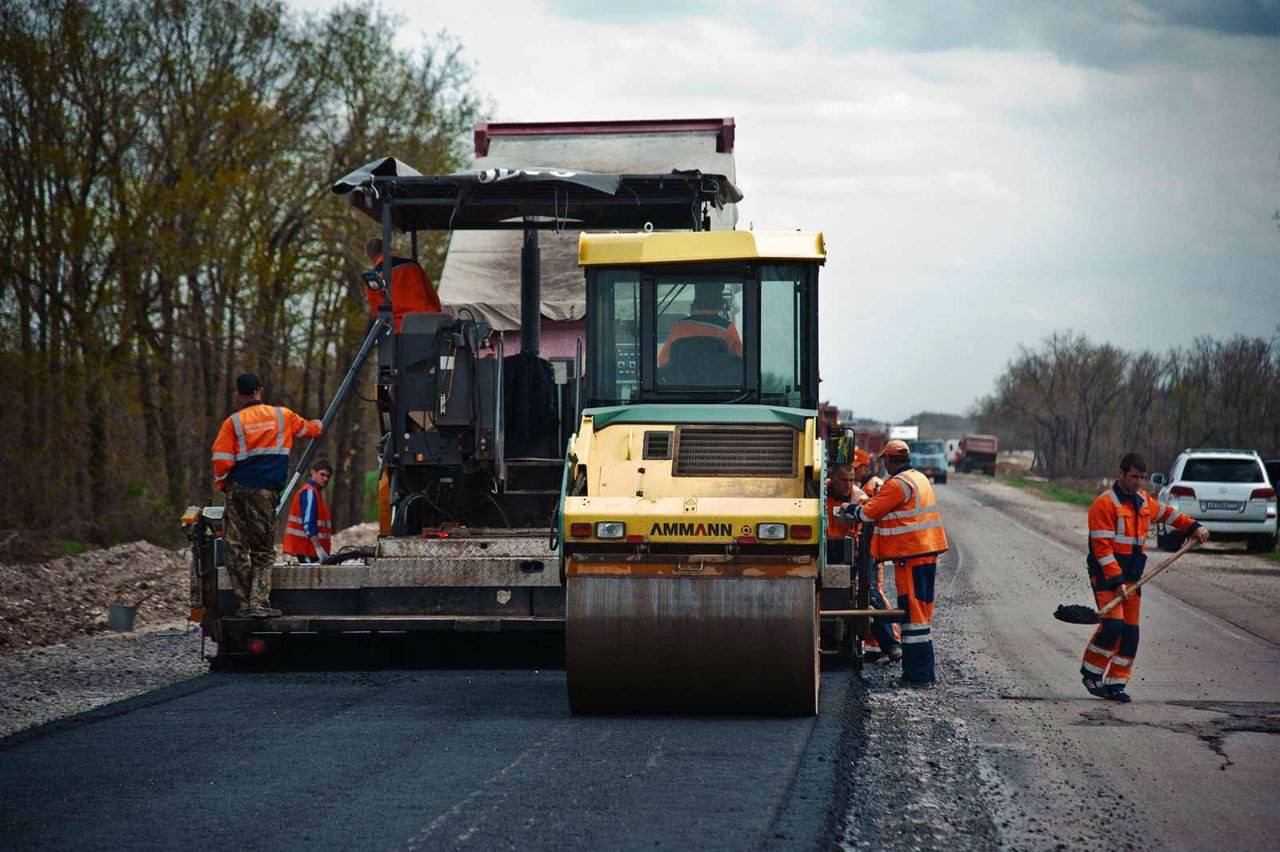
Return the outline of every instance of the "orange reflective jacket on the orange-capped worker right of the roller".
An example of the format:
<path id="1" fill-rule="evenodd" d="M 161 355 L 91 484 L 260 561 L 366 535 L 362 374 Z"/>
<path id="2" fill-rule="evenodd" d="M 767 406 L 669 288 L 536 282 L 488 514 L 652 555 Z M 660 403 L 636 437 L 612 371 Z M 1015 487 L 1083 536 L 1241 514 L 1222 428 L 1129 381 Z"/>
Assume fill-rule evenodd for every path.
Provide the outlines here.
<path id="1" fill-rule="evenodd" d="M 876 522 L 872 558 L 876 562 L 909 559 L 947 550 L 942 514 L 929 478 L 908 468 L 886 481 L 879 493 L 861 507 L 861 516 Z"/>

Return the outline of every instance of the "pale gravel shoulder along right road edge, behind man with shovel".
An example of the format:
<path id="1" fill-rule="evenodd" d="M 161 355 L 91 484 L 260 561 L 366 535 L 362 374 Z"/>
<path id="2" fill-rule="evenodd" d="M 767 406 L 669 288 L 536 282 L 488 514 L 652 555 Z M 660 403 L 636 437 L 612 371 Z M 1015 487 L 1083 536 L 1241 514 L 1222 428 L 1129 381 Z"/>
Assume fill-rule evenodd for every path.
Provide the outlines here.
<path id="1" fill-rule="evenodd" d="M 1080 553 L 1088 546 L 1083 507 L 1044 499 L 984 476 L 955 473 L 957 484 L 980 494 L 1009 517 Z M 1165 554 L 1148 541 L 1148 565 Z M 1280 563 L 1244 553 L 1243 544 L 1210 542 L 1188 553 L 1151 583 L 1166 594 L 1271 642 L 1280 642 Z"/>

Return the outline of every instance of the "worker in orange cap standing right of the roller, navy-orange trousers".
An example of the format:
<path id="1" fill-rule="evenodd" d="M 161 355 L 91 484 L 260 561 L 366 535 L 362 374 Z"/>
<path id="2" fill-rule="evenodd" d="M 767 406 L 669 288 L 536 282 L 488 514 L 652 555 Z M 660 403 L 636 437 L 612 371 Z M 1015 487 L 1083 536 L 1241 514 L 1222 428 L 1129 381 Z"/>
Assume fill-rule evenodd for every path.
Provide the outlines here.
<path id="1" fill-rule="evenodd" d="M 908 686 L 931 686 L 933 667 L 933 581 L 938 555 L 947 550 L 942 516 L 929 478 L 911 468 L 911 450 L 904 441 L 892 440 L 881 453 L 888 480 L 879 493 L 861 505 L 850 505 L 845 513 L 859 523 L 874 521 L 872 558 L 893 562 L 899 609 L 902 620 L 902 682 Z"/>

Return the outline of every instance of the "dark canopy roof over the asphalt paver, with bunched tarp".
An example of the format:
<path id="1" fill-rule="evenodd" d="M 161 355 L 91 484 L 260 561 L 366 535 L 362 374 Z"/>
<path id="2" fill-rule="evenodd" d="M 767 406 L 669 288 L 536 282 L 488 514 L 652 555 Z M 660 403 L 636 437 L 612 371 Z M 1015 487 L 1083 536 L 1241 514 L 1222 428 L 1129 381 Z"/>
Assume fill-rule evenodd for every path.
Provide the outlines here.
<path id="1" fill-rule="evenodd" d="M 742 193 L 724 175 L 698 170 L 599 174 L 558 168 L 479 169 L 424 175 L 394 157 L 369 162 L 333 184 L 337 194 L 375 221 L 394 200 L 398 230 L 522 229 L 536 217 L 548 229 L 701 226 L 704 205 L 722 209 Z"/>

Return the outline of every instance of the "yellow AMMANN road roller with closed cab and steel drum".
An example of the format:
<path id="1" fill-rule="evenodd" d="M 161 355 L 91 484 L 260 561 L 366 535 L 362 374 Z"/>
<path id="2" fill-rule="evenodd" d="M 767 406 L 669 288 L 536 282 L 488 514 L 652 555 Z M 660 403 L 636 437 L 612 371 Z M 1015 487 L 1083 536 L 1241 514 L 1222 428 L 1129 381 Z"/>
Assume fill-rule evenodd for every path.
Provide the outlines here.
<path id="1" fill-rule="evenodd" d="M 554 525 L 575 713 L 817 713 L 824 260 L 820 233 L 581 235 Z"/>

